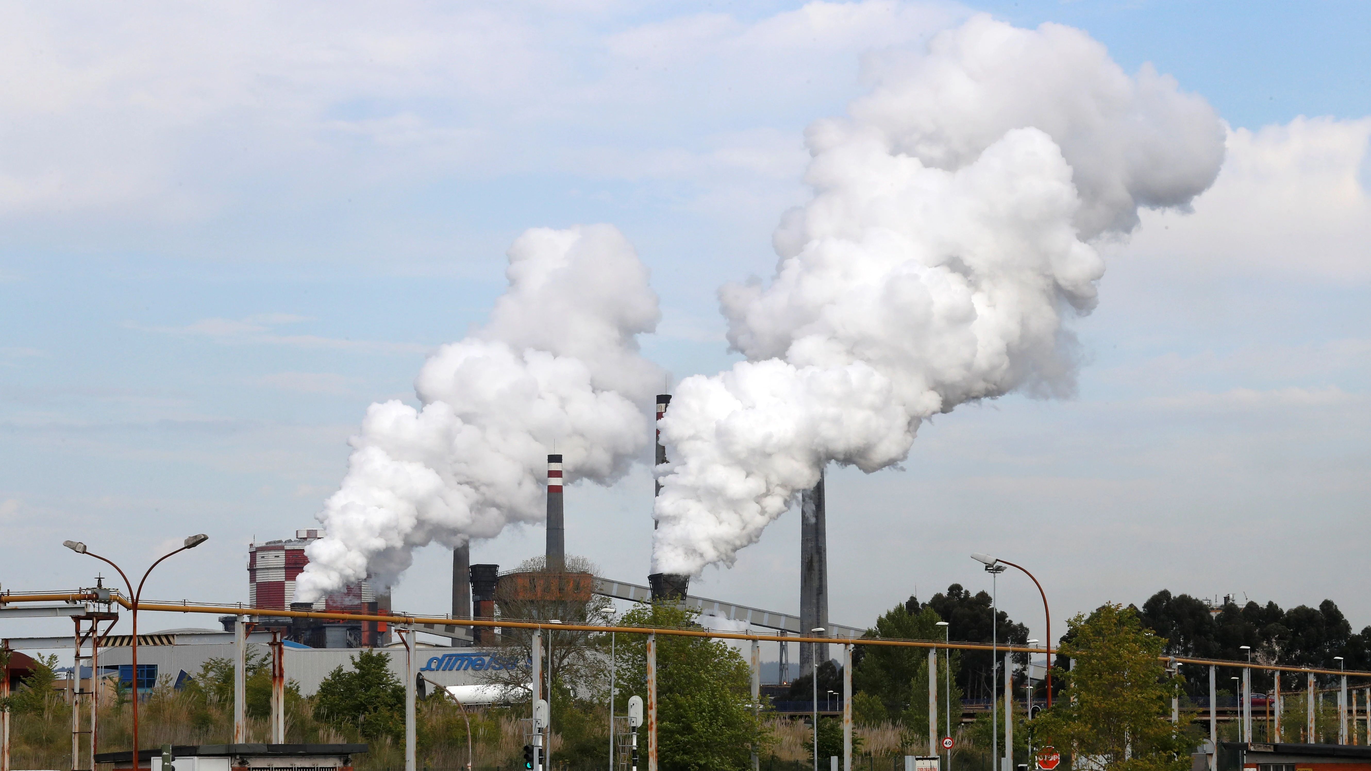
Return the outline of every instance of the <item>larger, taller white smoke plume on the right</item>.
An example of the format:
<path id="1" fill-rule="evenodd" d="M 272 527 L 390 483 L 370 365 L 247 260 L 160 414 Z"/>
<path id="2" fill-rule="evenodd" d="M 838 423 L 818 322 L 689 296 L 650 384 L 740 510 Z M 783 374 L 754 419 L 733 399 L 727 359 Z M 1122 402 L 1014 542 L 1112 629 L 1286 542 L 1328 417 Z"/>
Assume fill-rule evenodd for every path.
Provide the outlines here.
<path id="1" fill-rule="evenodd" d="M 1223 160 L 1208 104 L 1073 29 L 980 16 L 869 64 L 849 118 L 809 129 L 776 275 L 720 292 L 749 360 L 683 381 L 661 422 L 654 570 L 732 564 L 827 463 L 897 464 L 934 414 L 1069 396 L 1093 244 L 1183 210 Z"/>

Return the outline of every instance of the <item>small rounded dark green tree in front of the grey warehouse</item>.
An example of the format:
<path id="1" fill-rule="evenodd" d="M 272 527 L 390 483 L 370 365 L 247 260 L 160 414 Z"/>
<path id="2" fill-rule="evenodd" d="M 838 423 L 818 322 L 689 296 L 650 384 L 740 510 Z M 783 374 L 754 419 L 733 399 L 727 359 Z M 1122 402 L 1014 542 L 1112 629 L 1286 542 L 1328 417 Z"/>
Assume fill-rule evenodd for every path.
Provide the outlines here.
<path id="1" fill-rule="evenodd" d="M 352 670 L 335 667 L 314 696 L 314 718 L 352 727 L 366 738 L 404 735 L 404 685 L 389 668 L 391 657 L 374 650 L 352 656 Z"/>

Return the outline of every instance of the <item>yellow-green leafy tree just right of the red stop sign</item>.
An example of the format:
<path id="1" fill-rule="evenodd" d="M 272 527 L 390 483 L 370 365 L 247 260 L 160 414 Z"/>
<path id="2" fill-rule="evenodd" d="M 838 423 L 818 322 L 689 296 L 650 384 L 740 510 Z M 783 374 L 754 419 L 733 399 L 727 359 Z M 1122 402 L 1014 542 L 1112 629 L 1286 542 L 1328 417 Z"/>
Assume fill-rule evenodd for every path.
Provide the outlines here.
<path id="1" fill-rule="evenodd" d="M 1171 724 L 1171 697 L 1182 686 L 1158 660 L 1167 641 L 1138 612 L 1105 604 L 1067 622 L 1061 645 L 1071 659 L 1065 689 L 1035 720 L 1039 745 L 1073 748 L 1076 767 L 1108 771 L 1185 771 L 1197 737 Z"/>

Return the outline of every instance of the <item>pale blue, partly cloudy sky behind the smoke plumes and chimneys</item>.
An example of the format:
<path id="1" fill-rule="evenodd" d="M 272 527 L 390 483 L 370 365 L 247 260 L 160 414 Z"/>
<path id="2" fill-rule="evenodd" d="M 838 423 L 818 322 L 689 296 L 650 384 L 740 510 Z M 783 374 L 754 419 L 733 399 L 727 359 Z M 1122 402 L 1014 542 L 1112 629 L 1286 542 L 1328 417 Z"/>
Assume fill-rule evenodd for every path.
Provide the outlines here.
<path id="1" fill-rule="evenodd" d="M 962 405 L 899 470 L 831 470 L 831 619 L 990 590 L 988 552 L 1034 571 L 1054 635 L 1160 589 L 1371 624 L 1363 3 L 5 4 L 0 589 L 89 586 L 66 538 L 141 574 L 206 533 L 144 597 L 245 600 L 247 545 L 314 526 L 366 407 L 415 403 L 528 227 L 616 225 L 661 296 L 646 353 L 673 381 L 728 367 L 716 292 L 775 270 L 805 127 L 865 92 L 865 58 L 978 12 L 1169 74 L 1227 156 L 1191 212 L 1102 247 L 1075 397 Z M 651 496 L 642 466 L 568 488 L 568 551 L 646 583 Z M 798 540 L 788 514 L 692 593 L 794 612 Z M 448 559 L 421 549 L 393 605 L 447 611 Z M 1027 578 L 995 590 L 1046 637 Z"/>

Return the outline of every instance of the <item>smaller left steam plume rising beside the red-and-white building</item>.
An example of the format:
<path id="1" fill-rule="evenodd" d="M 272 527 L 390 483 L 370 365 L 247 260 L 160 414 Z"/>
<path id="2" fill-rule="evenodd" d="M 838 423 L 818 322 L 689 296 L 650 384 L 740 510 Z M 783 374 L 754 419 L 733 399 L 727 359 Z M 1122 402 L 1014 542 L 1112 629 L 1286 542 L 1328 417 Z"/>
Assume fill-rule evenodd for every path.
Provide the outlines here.
<path id="1" fill-rule="evenodd" d="M 624 236 L 533 229 L 509 260 L 489 322 L 420 371 L 422 409 L 367 409 L 341 489 L 318 515 L 328 534 L 306 549 L 299 601 L 367 575 L 389 585 L 435 540 L 457 546 L 542 522 L 554 442 L 568 483 L 607 483 L 651 441 L 664 374 L 636 336 L 661 312 Z"/>

